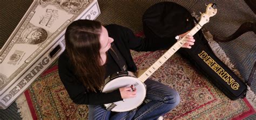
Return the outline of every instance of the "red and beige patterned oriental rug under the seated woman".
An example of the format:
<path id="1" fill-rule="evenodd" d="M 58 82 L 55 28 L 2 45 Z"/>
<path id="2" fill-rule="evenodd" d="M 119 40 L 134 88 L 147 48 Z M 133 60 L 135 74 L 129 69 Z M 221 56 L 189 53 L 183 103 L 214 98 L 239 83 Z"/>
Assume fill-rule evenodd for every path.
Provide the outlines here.
<path id="1" fill-rule="evenodd" d="M 147 69 L 165 50 L 131 53 L 138 69 Z M 151 78 L 176 89 L 181 97 L 164 119 L 242 119 L 255 112 L 246 99 L 228 99 L 177 53 Z M 87 106 L 69 98 L 57 65 L 44 72 L 24 94 L 33 119 L 87 119 Z"/>

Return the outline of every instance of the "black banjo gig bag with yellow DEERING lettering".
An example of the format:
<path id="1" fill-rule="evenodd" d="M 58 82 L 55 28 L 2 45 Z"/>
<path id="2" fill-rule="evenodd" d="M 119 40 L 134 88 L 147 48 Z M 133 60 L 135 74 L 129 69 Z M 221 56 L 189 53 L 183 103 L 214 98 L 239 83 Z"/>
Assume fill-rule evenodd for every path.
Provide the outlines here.
<path id="1" fill-rule="evenodd" d="M 143 14 L 143 30 L 149 38 L 177 41 L 175 36 L 190 31 L 195 26 L 194 20 L 196 19 L 183 6 L 161 2 L 152 5 Z M 192 48 L 180 48 L 178 53 L 196 66 L 199 72 L 231 100 L 245 97 L 246 84 L 214 55 L 201 30 L 193 37 L 196 42 Z"/>

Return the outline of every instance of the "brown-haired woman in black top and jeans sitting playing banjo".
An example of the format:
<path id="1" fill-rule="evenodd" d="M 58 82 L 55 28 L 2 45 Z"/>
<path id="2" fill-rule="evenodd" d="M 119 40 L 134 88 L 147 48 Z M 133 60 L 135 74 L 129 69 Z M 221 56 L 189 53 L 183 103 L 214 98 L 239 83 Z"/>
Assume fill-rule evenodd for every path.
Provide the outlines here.
<path id="1" fill-rule="evenodd" d="M 186 33 L 179 35 L 183 38 Z M 194 44 L 193 36 L 186 35 L 184 48 Z M 170 48 L 176 41 L 140 38 L 131 29 L 119 25 L 102 26 L 95 20 L 73 21 L 65 32 L 66 49 L 58 59 L 59 76 L 73 102 L 89 105 L 89 119 L 157 119 L 180 102 L 177 91 L 147 79 L 146 96 L 136 109 L 114 112 L 103 104 L 136 97 L 135 85 L 120 87 L 112 92 L 101 92 L 105 79 L 111 74 L 136 73 L 130 49 L 155 51 Z M 129 105 L 128 105 L 129 106 Z"/>

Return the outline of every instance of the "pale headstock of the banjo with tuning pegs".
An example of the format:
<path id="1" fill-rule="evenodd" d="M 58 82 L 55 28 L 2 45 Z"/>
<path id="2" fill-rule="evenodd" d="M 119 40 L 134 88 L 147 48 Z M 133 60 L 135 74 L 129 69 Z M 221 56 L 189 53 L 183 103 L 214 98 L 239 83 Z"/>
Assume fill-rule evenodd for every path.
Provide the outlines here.
<path id="1" fill-rule="evenodd" d="M 199 24 L 203 26 L 209 21 L 210 17 L 215 16 L 216 13 L 217 13 L 216 4 L 215 3 L 208 4 L 206 7 L 206 12 L 201 14 Z"/>

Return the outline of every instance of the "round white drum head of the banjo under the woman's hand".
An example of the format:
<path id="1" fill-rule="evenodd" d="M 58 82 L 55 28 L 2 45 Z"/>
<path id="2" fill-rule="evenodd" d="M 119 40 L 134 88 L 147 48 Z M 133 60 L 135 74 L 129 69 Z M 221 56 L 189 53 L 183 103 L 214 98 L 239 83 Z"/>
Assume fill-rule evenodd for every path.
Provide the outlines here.
<path id="1" fill-rule="evenodd" d="M 131 85 L 133 85 L 137 89 L 136 97 L 123 99 L 123 101 L 117 101 L 114 103 L 104 104 L 106 109 L 110 108 L 111 111 L 124 112 L 130 111 L 140 106 L 140 104 L 143 103 L 146 96 L 146 87 L 144 83 L 140 81 L 138 78 L 131 76 L 118 77 L 106 83 L 106 85 L 102 89 L 102 92 L 109 93 L 120 87 L 126 87 Z"/>

